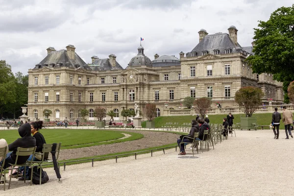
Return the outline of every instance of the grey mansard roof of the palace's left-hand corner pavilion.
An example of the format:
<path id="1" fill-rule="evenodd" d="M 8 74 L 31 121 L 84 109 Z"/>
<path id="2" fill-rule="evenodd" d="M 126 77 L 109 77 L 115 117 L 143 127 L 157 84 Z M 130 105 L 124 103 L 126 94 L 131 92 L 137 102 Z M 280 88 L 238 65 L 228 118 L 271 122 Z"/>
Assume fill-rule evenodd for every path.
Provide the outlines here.
<path id="1" fill-rule="evenodd" d="M 37 67 L 40 69 L 49 65 L 56 67 L 57 64 L 59 64 L 59 67 L 83 67 L 86 70 L 89 70 L 87 63 L 85 63 L 77 53 L 74 53 L 74 59 L 71 59 L 65 49 L 51 51 L 39 64 L 36 65 L 34 69 Z"/>

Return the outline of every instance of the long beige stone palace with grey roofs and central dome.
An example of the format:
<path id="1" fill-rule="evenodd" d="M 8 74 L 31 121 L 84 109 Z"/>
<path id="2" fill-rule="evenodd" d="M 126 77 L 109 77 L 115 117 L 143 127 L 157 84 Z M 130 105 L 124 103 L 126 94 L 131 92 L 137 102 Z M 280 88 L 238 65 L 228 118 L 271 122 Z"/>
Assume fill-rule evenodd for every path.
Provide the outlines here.
<path id="1" fill-rule="evenodd" d="M 228 33 L 208 34 L 201 29 L 199 43 L 186 54 L 180 52 L 179 59 L 155 54 L 150 60 L 139 46 L 125 69 L 114 54 L 105 59 L 92 56 L 89 65 L 73 45 L 61 50 L 49 47 L 47 56 L 28 70 L 27 115 L 42 120 L 43 111 L 49 109 L 51 121 L 65 117 L 74 121 L 86 108 L 91 121 L 94 109 L 101 106 L 121 120 L 123 109 L 132 110 L 137 103 L 143 111 L 147 103 L 154 103 L 157 116 L 163 116 L 164 110 L 178 109 L 188 96 L 212 98 L 212 107 L 216 102 L 222 108 L 236 107 L 235 92 L 244 86 L 261 88 L 264 101 L 283 102 L 281 83 L 270 74 L 252 73 L 245 61 L 254 55 L 252 46 L 240 46 L 237 32 L 235 26 Z"/>

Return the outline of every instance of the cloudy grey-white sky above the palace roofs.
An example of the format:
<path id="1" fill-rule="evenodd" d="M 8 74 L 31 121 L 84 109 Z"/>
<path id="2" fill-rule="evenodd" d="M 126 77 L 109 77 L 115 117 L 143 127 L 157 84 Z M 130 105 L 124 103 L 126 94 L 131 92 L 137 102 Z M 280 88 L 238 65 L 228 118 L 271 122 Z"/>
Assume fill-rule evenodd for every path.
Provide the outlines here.
<path id="1" fill-rule="evenodd" d="M 238 31 L 250 46 L 253 28 L 291 0 L 0 0 L 0 59 L 26 74 L 46 57 L 48 47 L 75 46 L 86 63 L 113 53 L 125 68 L 137 54 L 191 51 L 201 28 L 209 34 Z"/>

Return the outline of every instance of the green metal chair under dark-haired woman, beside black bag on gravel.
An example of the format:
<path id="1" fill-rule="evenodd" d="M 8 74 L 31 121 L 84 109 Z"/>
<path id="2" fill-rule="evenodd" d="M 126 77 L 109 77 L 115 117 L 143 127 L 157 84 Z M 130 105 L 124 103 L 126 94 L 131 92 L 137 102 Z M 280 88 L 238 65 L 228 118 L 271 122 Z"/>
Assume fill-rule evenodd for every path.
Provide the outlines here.
<path id="1" fill-rule="evenodd" d="M 57 161 L 58 160 L 58 156 L 59 156 L 60 147 L 61 147 L 61 142 L 59 144 L 57 144 L 56 150 L 55 150 L 56 151 L 55 156 L 56 156 L 56 162 L 58 164 L 58 169 L 60 169 L 59 162 Z M 44 160 L 44 154 L 45 153 L 49 153 L 51 151 L 52 151 L 52 144 L 43 144 L 42 153 L 35 152 L 35 154 L 42 156 L 42 160 L 40 160 L 40 161 L 33 161 L 33 164 L 38 164 L 38 167 L 40 167 L 40 185 L 41 185 L 41 180 L 42 180 L 42 167 L 43 167 L 43 165 L 52 162 L 52 160 L 49 160 L 49 159 Z M 59 178 L 59 181 L 60 181 L 60 178 Z"/>

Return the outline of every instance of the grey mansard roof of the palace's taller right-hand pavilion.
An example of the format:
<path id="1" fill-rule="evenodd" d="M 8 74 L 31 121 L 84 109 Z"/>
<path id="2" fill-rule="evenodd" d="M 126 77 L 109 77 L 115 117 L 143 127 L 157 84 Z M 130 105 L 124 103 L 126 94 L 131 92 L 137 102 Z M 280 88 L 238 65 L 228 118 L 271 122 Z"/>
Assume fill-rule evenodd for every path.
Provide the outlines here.
<path id="1" fill-rule="evenodd" d="M 215 50 L 219 50 L 219 54 L 224 54 L 225 49 L 231 49 L 231 53 L 237 53 L 244 50 L 239 44 L 236 46 L 227 33 L 216 33 L 206 35 L 191 52 L 186 54 L 186 56 L 192 56 L 192 52 L 196 52 L 196 56 L 202 56 L 202 52 L 204 51 L 214 54 Z"/>

